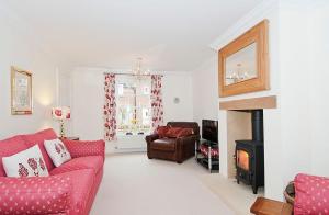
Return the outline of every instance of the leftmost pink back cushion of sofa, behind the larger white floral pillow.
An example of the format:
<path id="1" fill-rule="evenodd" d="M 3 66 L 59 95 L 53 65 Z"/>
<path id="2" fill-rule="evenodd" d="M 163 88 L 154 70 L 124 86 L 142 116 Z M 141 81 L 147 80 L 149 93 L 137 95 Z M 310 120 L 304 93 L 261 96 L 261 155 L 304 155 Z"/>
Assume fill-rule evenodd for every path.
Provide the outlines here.
<path id="1" fill-rule="evenodd" d="M 0 140 L 0 177 L 5 176 L 3 165 L 2 165 L 2 157 L 12 156 L 22 150 L 25 150 L 26 148 L 27 147 L 24 144 L 24 139 L 22 138 L 21 135 Z"/>

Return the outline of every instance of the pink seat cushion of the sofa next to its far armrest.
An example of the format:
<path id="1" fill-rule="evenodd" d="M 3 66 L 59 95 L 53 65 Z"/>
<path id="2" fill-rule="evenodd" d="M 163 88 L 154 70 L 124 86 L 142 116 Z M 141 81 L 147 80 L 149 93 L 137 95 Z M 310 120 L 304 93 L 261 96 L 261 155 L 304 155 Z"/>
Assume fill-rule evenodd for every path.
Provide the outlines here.
<path id="1" fill-rule="evenodd" d="M 92 169 L 94 173 L 99 173 L 99 171 L 103 168 L 103 157 L 102 156 L 88 156 L 73 158 L 61 166 L 52 170 L 50 174 L 59 174 L 64 172 L 69 172 L 73 170 L 81 169 Z"/>

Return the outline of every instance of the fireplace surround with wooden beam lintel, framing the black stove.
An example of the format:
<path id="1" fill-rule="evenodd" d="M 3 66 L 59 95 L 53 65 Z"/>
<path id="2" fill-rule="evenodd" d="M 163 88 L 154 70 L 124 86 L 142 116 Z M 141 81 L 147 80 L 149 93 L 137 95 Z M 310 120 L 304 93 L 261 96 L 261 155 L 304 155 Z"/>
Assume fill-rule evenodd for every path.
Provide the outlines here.
<path id="1" fill-rule="evenodd" d="M 280 127 L 280 112 L 277 111 L 277 97 L 245 97 L 237 99 L 226 99 L 219 101 L 219 172 L 225 178 L 236 181 L 237 168 L 236 159 L 236 140 L 252 140 L 251 111 L 263 110 L 263 145 L 264 145 L 264 186 L 258 189 L 258 194 L 275 199 L 282 195 L 279 177 L 280 170 L 276 165 L 281 161 L 281 154 L 277 143 L 281 142 L 277 128 Z M 242 182 L 241 182 L 242 183 Z M 274 184 L 274 185 L 273 185 Z M 241 190 L 245 185 L 239 185 Z M 251 189 L 250 189 L 251 190 Z M 251 192 L 250 192 L 251 193 Z"/>

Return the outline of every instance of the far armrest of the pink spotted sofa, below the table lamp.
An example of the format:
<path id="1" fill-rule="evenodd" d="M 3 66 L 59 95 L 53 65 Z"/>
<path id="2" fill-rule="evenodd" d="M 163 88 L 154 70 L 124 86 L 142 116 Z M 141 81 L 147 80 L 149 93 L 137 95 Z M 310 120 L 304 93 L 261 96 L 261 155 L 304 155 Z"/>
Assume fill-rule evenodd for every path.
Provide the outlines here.
<path id="1" fill-rule="evenodd" d="M 100 140 L 69 140 L 63 139 L 72 158 L 86 156 L 102 156 L 105 158 L 105 142 Z"/>

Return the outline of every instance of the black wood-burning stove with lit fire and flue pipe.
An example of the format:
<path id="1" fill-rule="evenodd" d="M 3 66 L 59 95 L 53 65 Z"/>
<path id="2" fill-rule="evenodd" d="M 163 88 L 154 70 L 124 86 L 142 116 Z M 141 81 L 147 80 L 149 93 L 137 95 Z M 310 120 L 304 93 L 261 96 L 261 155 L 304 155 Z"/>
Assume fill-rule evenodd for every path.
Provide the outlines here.
<path id="1" fill-rule="evenodd" d="M 263 111 L 251 111 L 251 120 L 252 139 L 236 140 L 236 178 L 238 183 L 250 184 L 257 194 L 258 188 L 264 185 Z"/>

